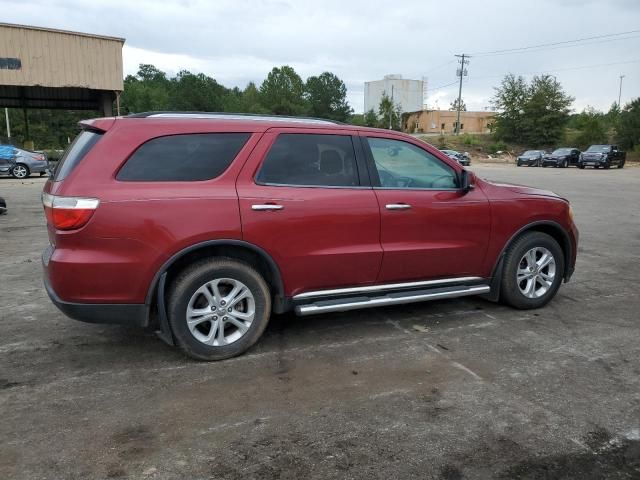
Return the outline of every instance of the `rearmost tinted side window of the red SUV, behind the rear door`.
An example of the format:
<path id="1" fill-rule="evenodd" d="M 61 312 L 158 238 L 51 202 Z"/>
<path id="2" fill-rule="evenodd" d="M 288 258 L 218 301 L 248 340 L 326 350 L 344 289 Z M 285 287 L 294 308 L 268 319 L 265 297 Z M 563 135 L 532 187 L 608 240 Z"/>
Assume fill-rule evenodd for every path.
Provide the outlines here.
<path id="1" fill-rule="evenodd" d="M 198 133 L 158 137 L 144 143 L 118 172 L 130 182 L 195 182 L 221 175 L 250 133 Z"/>

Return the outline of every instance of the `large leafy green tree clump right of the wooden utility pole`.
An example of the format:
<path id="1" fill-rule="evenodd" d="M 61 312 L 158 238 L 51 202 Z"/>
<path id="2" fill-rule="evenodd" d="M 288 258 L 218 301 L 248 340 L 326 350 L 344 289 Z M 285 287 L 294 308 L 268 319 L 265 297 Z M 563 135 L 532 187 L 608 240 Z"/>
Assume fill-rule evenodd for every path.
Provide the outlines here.
<path id="1" fill-rule="evenodd" d="M 492 99 L 498 110 L 493 122 L 496 138 L 532 146 L 553 145 L 564 135 L 573 97 L 550 75 L 507 75 Z"/>

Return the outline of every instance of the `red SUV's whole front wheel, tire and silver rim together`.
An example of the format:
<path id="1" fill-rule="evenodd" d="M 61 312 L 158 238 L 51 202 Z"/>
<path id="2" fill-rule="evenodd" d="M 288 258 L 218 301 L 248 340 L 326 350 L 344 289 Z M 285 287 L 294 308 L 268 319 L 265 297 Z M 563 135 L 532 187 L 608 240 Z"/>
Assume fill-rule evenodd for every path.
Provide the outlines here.
<path id="1" fill-rule="evenodd" d="M 515 308 L 540 308 L 557 293 L 563 272 L 558 242 L 546 233 L 525 233 L 507 250 L 501 298 Z"/>

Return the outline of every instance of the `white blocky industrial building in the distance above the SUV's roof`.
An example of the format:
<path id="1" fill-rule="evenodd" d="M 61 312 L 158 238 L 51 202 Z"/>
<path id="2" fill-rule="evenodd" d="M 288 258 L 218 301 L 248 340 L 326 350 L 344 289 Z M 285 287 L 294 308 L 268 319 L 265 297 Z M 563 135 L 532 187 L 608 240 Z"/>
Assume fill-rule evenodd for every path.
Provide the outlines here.
<path id="1" fill-rule="evenodd" d="M 382 80 L 364 83 L 364 111 L 373 109 L 378 113 L 382 95 L 393 97 L 393 103 L 400 105 L 403 112 L 416 112 L 423 108 L 423 80 L 408 80 L 402 75 L 385 75 Z"/>

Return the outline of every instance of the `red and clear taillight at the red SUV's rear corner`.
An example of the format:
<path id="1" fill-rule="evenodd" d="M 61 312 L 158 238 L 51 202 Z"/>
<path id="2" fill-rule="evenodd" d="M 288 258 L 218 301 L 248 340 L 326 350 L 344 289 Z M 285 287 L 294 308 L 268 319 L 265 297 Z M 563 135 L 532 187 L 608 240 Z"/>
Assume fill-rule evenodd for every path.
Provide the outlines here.
<path id="1" fill-rule="evenodd" d="M 42 194 L 47 222 L 57 230 L 75 230 L 89 221 L 100 200 L 97 198 L 60 197 Z"/>

